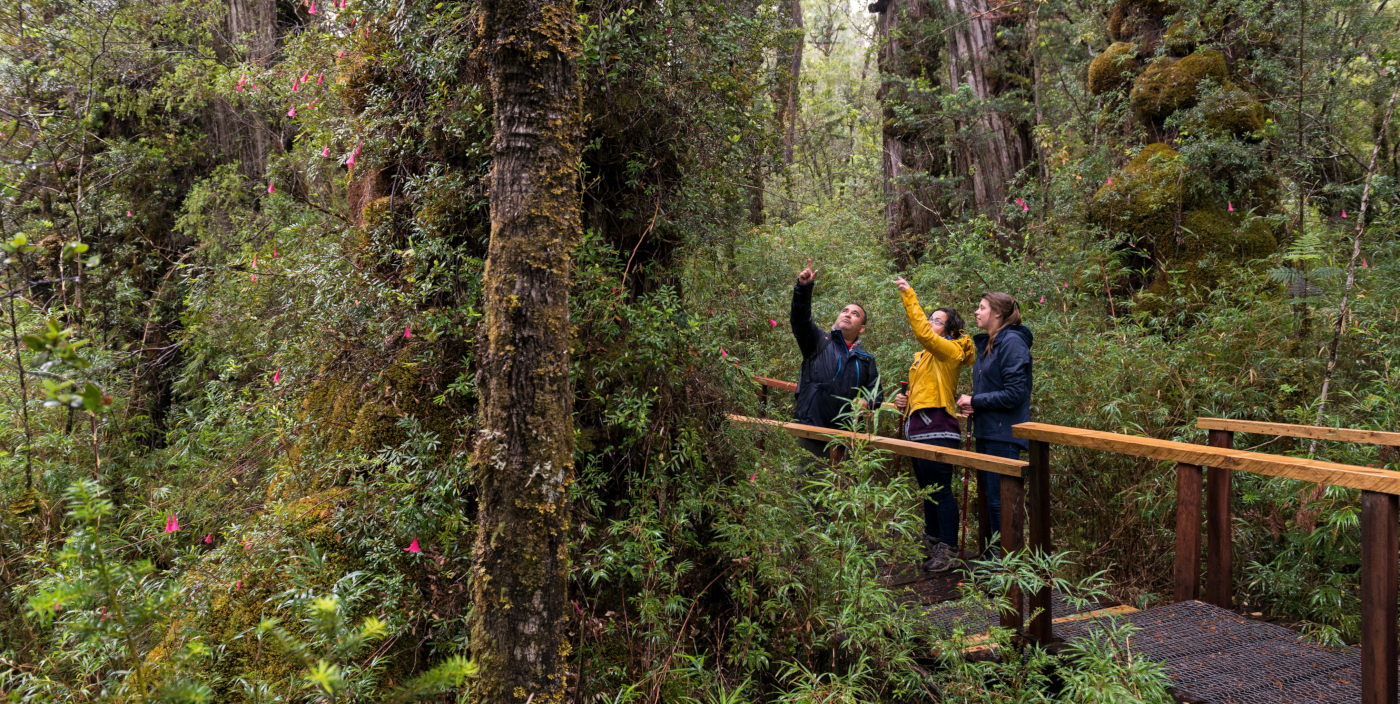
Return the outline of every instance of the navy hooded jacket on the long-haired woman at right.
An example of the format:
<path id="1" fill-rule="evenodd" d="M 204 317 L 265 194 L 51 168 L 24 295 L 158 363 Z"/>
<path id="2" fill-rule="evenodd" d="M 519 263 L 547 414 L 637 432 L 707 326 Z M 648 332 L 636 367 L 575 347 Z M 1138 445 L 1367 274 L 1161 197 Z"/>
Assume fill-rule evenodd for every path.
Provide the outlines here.
<path id="1" fill-rule="evenodd" d="M 1023 325 L 1011 325 L 997 333 L 987 354 L 987 333 L 972 339 L 977 361 L 972 365 L 973 432 L 979 439 L 1014 442 L 1022 449 L 1029 442 L 1011 435 L 1016 423 L 1030 421 L 1030 344 L 1035 336 Z"/>

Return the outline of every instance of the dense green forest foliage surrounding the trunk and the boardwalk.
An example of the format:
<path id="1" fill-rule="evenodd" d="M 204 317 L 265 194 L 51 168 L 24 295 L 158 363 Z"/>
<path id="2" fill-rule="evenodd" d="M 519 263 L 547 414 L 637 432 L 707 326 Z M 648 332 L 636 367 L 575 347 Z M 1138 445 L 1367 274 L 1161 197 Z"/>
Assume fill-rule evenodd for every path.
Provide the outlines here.
<path id="1" fill-rule="evenodd" d="M 927 49 L 923 73 L 881 76 L 872 18 L 813 0 L 791 164 L 777 7 L 580 4 L 578 701 L 1169 700 L 1124 628 L 955 656 L 974 634 L 934 631 L 881 581 L 916 558 L 913 479 L 862 448 L 808 469 L 790 439 L 725 423 L 759 410 L 749 375 L 797 375 L 806 258 L 819 322 L 869 311 L 889 389 L 916 350 L 902 274 L 930 309 L 1021 300 L 1040 421 L 1190 442 L 1198 416 L 1397 430 L 1396 10 L 1141 4 L 1037 3 L 1033 35 L 1005 28 L 993 105 L 942 88 L 928 48 L 948 17 L 896 38 Z M 489 48 L 470 1 L 311 7 L 0 0 L 11 700 L 470 686 Z M 1193 63 L 1214 67 L 1191 95 L 1144 98 Z M 892 238 L 885 130 L 956 144 L 988 109 L 1033 122 L 1026 204 L 977 216 L 949 176 L 941 224 Z M 1366 445 L 1238 445 L 1400 469 Z M 1061 553 L 986 565 L 967 603 L 1011 579 L 1168 599 L 1172 467 L 1068 449 L 1054 467 Z M 1239 599 L 1354 641 L 1357 493 L 1236 487 Z"/>

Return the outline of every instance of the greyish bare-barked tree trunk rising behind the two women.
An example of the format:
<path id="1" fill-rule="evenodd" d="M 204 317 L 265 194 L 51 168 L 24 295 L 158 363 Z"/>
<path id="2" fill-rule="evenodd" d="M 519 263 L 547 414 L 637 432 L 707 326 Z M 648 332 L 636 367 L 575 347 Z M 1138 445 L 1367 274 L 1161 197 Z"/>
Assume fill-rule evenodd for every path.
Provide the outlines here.
<path id="1" fill-rule="evenodd" d="M 1030 162 L 1030 127 L 1023 118 L 1000 109 L 997 99 L 1007 81 L 988 78 L 1009 66 L 997 56 L 997 24 L 1011 20 L 1011 8 L 988 7 L 987 0 L 945 0 L 948 4 L 948 91 L 967 85 L 977 99 L 976 118 L 959 123 L 958 172 L 970 181 L 974 207 L 1001 220 L 1007 183 Z"/>

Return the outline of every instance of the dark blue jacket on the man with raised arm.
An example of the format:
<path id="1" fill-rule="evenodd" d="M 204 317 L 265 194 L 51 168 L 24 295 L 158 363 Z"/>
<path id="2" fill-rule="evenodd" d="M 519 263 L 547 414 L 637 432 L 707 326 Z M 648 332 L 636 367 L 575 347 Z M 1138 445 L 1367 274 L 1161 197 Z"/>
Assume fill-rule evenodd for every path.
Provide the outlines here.
<path id="1" fill-rule="evenodd" d="M 848 407 L 857 389 L 874 389 L 882 403 L 875 371 L 875 357 L 861 347 L 850 349 L 840 330 L 822 330 L 812 321 L 812 286 L 792 287 L 792 337 L 802 350 L 802 372 L 797 379 L 797 421 L 806 425 L 836 428 L 836 417 Z"/>

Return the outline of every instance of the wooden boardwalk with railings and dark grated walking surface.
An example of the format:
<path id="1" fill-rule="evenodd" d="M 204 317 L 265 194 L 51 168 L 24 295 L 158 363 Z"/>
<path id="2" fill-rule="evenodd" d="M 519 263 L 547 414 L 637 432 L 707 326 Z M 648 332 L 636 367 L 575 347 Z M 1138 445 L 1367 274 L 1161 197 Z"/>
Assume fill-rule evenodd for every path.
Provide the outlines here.
<path id="1" fill-rule="evenodd" d="M 766 388 L 791 390 L 791 383 L 759 379 Z M 760 399 L 764 395 L 760 395 Z M 934 448 L 903 439 L 833 431 L 794 423 L 731 416 L 731 421 L 797 437 L 865 442 L 895 455 L 937 459 L 1002 474 L 1001 546 L 1005 550 L 1050 551 L 1051 445 L 1071 445 L 1176 463 L 1175 603 L 1134 609 L 1072 613 L 1049 588 L 1009 593 L 1021 613 L 997 616 L 967 612 L 946 603 L 955 589 L 948 578 L 904 585 L 918 592 L 928 619 L 938 627 L 987 633 L 993 624 L 1025 634 L 1033 642 L 1074 642 L 1093 637 L 1103 619 L 1121 619 L 1137 631 L 1135 652 L 1168 669 L 1179 701 L 1214 704 L 1253 703 L 1364 703 L 1394 704 L 1400 693 L 1397 661 L 1397 589 L 1400 589 L 1400 472 L 1359 467 L 1316 459 L 1233 449 L 1233 434 L 1275 434 L 1343 442 L 1400 446 L 1400 434 L 1317 428 L 1225 418 L 1200 418 L 1210 431 L 1207 445 L 1100 432 L 1084 428 L 1023 423 L 1014 427 L 1030 444 L 1029 462 Z M 839 459 L 833 451 L 833 462 Z M 1254 621 L 1231 610 L 1233 605 L 1231 544 L 1231 477 L 1233 472 L 1288 477 L 1361 490 L 1361 644 L 1327 648 L 1299 634 Z M 1204 497 L 1203 497 L 1204 490 Z M 1203 501 L 1204 498 L 1204 501 Z M 1203 511 L 1204 509 L 1204 511 Z M 1203 512 L 1205 530 L 1203 536 Z M 988 532 L 983 529 L 983 532 Z M 1203 540 L 1204 537 L 1204 540 Z M 1204 589 L 1201 553 L 1205 553 Z M 946 603 L 946 605 L 945 605 Z M 1037 613 L 1030 619 L 1030 613 Z"/>

